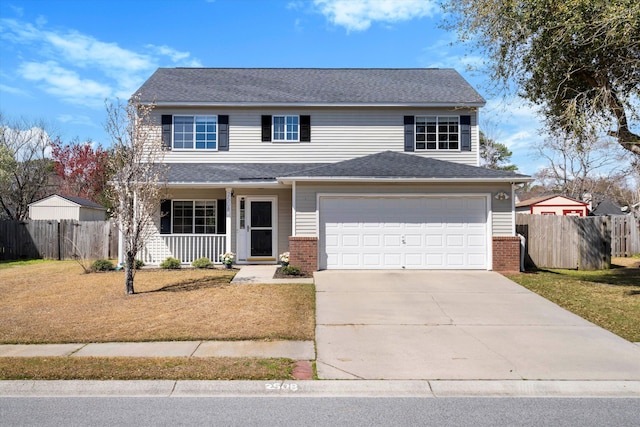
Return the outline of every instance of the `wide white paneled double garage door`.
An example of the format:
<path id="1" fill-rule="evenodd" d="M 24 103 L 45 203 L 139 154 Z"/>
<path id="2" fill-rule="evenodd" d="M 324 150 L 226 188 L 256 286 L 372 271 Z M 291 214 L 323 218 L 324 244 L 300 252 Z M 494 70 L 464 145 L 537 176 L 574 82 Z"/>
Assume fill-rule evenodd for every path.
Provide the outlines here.
<path id="1" fill-rule="evenodd" d="M 321 269 L 486 269 L 487 199 L 321 197 Z"/>

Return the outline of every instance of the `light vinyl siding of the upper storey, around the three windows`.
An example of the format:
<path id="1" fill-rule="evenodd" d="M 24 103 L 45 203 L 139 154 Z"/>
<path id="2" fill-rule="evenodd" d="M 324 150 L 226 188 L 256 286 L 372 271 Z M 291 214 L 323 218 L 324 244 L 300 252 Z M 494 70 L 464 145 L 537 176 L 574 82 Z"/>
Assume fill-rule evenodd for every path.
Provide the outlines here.
<path id="1" fill-rule="evenodd" d="M 157 109 L 161 114 L 229 115 L 229 151 L 173 150 L 167 163 L 337 162 L 381 151 L 404 151 L 405 115 L 470 115 L 471 151 L 416 151 L 425 157 L 478 165 L 477 113 L 469 109 L 433 108 L 225 108 Z M 297 114 L 311 116 L 311 142 L 262 142 L 261 116 Z M 159 125 L 158 125 L 159 126 Z"/>

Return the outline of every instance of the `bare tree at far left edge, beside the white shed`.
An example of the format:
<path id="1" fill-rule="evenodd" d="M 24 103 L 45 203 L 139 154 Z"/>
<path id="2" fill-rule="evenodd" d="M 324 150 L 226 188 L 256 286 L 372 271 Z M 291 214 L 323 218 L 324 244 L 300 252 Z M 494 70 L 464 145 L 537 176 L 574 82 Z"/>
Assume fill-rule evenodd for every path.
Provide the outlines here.
<path id="1" fill-rule="evenodd" d="M 47 193 L 53 167 L 50 129 L 42 120 L 8 122 L 0 113 L 0 217 L 22 221 Z"/>

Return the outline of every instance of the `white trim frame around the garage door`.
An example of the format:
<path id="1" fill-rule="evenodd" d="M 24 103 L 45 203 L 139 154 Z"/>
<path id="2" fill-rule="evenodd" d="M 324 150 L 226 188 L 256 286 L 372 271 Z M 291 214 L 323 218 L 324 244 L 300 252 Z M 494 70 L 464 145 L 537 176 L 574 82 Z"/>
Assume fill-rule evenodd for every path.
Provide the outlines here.
<path id="1" fill-rule="evenodd" d="M 320 199 L 321 198 L 465 198 L 475 197 L 485 199 L 486 209 L 486 233 L 487 233 L 487 270 L 493 269 L 493 209 L 491 206 L 491 193 L 316 193 L 316 236 L 318 238 L 318 257 L 322 242 L 320 242 Z M 318 258 L 320 259 L 320 258 Z"/>

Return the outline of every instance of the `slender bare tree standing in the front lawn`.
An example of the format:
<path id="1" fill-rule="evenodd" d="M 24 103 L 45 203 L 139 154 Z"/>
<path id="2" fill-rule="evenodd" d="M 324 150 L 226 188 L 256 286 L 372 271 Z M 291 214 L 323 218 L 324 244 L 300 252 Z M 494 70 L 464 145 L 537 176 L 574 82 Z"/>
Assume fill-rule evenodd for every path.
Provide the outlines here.
<path id="1" fill-rule="evenodd" d="M 135 293 L 135 260 L 154 230 L 154 218 L 166 188 L 164 151 L 151 111 L 135 95 L 128 103 L 107 103 L 106 131 L 112 140 L 113 176 L 108 198 L 124 239 L 125 291 Z"/>

